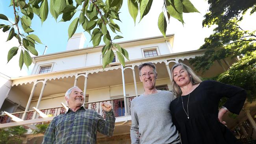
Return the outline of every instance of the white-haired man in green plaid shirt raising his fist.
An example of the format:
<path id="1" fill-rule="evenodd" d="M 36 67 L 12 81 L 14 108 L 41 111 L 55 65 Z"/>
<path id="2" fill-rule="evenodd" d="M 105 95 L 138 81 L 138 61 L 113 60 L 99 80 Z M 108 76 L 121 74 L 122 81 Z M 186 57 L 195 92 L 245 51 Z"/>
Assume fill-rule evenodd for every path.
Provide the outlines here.
<path id="1" fill-rule="evenodd" d="M 52 120 L 48 126 L 43 144 L 95 144 L 97 131 L 112 136 L 115 117 L 110 103 L 102 103 L 106 111 L 104 120 L 96 111 L 83 107 L 85 96 L 78 87 L 72 87 L 65 94 L 69 110 Z"/>

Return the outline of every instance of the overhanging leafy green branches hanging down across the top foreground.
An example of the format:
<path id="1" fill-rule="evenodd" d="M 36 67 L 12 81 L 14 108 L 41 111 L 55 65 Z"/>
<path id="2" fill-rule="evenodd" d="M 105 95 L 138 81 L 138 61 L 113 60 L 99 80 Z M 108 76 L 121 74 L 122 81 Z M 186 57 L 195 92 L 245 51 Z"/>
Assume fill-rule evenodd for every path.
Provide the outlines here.
<path id="1" fill-rule="evenodd" d="M 121 32 L 115 21 L 121 22 L 119 13 L 123 0 L 11 0 L 10 2 L 10 6 L 13 7 L 15 23 L 11 23 L 6 15 L 0 14 L 0 19 L 10 22 L 10 25 L 0 24 L 0 29 L 2 28 L 4 32 L 9 31 L 7 41 L 13 39 L 13 37 L 19 41 L 19 46 L 9 50 L 7 61 L 9 62 L 20 50 L 20 69 L 24 63 L 27 67 L 31 65 L 31 54 L 38 55 L 35 44 L 42 44 L 39 37 L 32 34 L 34 31 L 32 29 L 34 14 L 41 19 L 43 24 L 48 18 L 49 11 L 56 21 L 59 17 L 61 17 L 60 22 L 73 19 L 68 28 L 69 38 L 74 35 L 78 26 L 81 25 L 83 30 L 91 35 L 93 47 L 98 46 L 103 39 L 105 43 L 102 48 L 103 68 L 113 61 L 114 51 L 123 66 L 125 65 L 124 57 L 129 60 L 128 52 L 119 44 L 113 42 L 113 40 L 120 39 L 122 36 L 115 35 L 114 38 L 111 38 L 109 33 L 109 30 L 113 33 Z M 134 23 L 138 13 L 140 13 L 139 21 L 148 14 L 152 3 L 153 0 L 128 0 L 128 10 L 134 19 Z M 184 24 L 182 14 L 193 12 L 198 11 L 189 0 L 163 0 L 163 11 L 158 18 L 158 28 L 165 37 L 166 19 L 169 20 L 172 16 Z M 73 18 L 76 13 L 79 16 Z M 24 33 L 20 33 L 20 25 Z"/>

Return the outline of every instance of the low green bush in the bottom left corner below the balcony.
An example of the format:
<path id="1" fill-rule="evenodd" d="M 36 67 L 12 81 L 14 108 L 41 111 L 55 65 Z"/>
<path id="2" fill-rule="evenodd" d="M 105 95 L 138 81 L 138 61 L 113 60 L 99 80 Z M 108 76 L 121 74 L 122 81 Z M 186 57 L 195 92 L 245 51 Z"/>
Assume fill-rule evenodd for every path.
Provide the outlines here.
<path id="1" fill-rule="evenodd" d="M 0 129 L 0 144 L 22 144 L 20 137 L 26 132 L 22 126 Z"/>

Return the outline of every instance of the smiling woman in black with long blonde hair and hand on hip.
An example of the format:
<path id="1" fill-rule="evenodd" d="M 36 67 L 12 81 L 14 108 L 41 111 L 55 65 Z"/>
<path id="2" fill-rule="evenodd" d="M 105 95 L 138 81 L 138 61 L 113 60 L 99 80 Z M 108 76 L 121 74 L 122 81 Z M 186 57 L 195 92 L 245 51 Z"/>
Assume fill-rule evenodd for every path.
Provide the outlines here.
<path id="1" fill-rule="evenodd" d="M 246 99 L 245 90 L 217 81 L 201 81 L 183 63 L 176 63 L 171 74 L 176 99 L 170 109 L 182 144 L 239 144 L 222 117 L 227 111 L 239 114 Z M 228 100 L 218 110 L 223 97 Z"/>

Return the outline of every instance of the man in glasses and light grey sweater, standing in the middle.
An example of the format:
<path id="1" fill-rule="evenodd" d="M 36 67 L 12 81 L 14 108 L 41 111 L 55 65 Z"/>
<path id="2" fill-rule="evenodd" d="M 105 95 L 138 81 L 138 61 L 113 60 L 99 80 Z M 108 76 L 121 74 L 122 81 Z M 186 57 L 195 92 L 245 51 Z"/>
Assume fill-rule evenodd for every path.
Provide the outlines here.
<path id="1" fill-rule="evenodd" d="M 157 72 L 153 63 L 139 65 L 139 78 L 145 92 L 132 100 L 132 144 L 179 144 L 180 137 L 172 122 L 171 92 L 156 89 Z"/>

